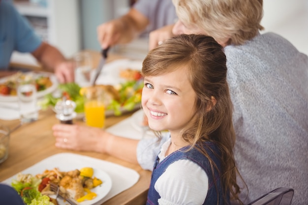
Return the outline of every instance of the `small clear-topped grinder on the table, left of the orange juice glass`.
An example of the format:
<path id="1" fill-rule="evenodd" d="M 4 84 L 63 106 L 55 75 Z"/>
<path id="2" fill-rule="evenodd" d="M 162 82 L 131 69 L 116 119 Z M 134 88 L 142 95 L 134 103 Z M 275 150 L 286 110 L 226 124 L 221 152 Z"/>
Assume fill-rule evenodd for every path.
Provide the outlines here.
<path id="1" fill-rule="evenodd" d="M 65 97 L 59 100 L 55 105 L 56 117 L 62 124 L 73 124 L 73 118 L 76 117 L 75 113 L 76 103 L 72 100 L 67 100 Z"/>

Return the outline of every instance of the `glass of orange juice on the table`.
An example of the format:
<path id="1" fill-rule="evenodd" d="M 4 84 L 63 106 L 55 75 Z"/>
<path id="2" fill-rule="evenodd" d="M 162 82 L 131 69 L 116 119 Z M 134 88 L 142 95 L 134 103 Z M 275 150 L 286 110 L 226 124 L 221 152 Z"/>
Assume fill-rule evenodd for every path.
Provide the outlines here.
<path id="1" fill-rule="evenodd" d="M 92 127 L 105 126 L 105 91 L 100 87 L 85 90 L 85 118 L 86 124 Z"/>

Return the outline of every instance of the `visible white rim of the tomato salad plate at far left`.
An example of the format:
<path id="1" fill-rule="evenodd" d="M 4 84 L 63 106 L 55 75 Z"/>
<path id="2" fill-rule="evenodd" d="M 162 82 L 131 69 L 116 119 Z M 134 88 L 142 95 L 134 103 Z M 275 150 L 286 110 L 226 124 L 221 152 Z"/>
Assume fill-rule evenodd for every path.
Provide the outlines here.
<path id="1" fill-rule="evenodd" d="M 52 74 L 52 73 L 46 73 L 46 72 L 39 72 L 39 73 L 35 73 L 35 75 L 37 76 L 49 76 L 50 80 L 52 82 L 52 86 L 44 89 L 42 91 L 37 92 L 37 98 L 43 97 L 44 95 L 51 93 L 53 91 L 55 91 L 58 87 L 58 81 L 57 81 L 57 77 Z M 0 79 L 0 83 L 4 83 L 7 80 L 8 77 L 4 77 Z M 18 98 L 17 96 L 5 96 L 5 95 L 1 95 L 0 94 L 0 101 L 3 102 L 15 102 L 17 101 Z"/>

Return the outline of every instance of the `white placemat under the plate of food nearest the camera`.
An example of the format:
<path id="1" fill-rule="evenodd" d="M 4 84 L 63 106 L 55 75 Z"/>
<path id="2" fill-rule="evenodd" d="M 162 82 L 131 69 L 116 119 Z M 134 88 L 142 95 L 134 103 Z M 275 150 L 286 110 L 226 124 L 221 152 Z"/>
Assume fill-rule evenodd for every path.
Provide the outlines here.
<path id="1" fill-rule="evenodd" d="M 120 194 L 124 190 L 132 187 L 138 180 L 139 174 L 132 169 L 123 167 L 121 165 L 80 155 L 73 153 L 60 153 L 52 155 L 37 164 L 29 167 L 28 169 L 22 171 L 23 174 L 39 174 L 43 173 L 46 169 L 52 170 L 55 167 L 61 169 L 81 169 L 83 167 L 92 167 L 95 169 L 99 169 L 101 171 L 106 172 L 112 180 L 112 186 L 109 193 L 98 202 L 92 204 L 91 201 L 85 201 L 83 204 L 87 204 L 86 202 L 91 203 L 91 205 L 100 205 L 110 198 Z M 67 171 L 69 171 L 67 170 Z M 11 176 L 8 179 L 2 181 L 3 183 L 11 185 L 12 179 L 15 179 L 17 175 Z M 97 196 L 99 197 L 99 195 Z"/>

